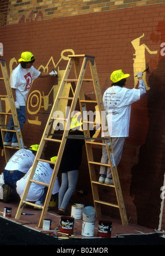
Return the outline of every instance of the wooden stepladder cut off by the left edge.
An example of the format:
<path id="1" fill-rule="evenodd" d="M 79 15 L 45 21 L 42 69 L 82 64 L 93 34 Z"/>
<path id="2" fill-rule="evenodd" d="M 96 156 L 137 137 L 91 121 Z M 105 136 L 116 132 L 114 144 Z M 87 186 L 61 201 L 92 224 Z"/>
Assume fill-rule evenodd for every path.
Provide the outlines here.
<path id="1" fill-rule="evenodd" d="M 1 86 L 1 93 L 4 94 L 0 95 L 0 127 L 1 127 L 1 135 L 2 135 L 2 141 L 4 142 L 4 136 L 7 131 L 14 132 L 17 135 L 19 148 L 24 148 L 24 141 L 20 130 L 17 110 L 15 108 L 14 98 L 12 94 L 12 89 L 10 87 L 9 82 L 9 75 L 7 71 L 7 67 L 5 64 L 5 60 L 3 58 L 0 58 L 0 66 L 1 66 L 1 73 L 0 73 L 0 81 L 3 81 L 3 86 Z M 2 75 L 2 77 L 1 77 Z M 8 122 L 8 116 L 13 117 L 14 122 L 14 129 L 7 130 L 7 122 Z M 13 126 L 12 126 L 13 127 Z M 5 154 L 5 161 L 8 162 L 11 155 L 12 146 L 3 146 L 4 148 L 4 154 Z"/>

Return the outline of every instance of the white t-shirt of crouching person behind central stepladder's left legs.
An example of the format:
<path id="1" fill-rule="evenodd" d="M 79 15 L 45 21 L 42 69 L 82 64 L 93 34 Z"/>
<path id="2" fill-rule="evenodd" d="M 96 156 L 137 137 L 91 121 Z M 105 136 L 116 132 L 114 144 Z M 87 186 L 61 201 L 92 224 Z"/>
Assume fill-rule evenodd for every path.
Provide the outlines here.
<path id="1" fill-rule="evenodd" d="M 29 178 L 30 170 L 31 168 L 28 170 L 25 176 L 20 180 L 18 180 L 17 182 L 17 193 L 19 194 L 20 198 L 23 196 L 27 179 Z M 50 167 L 49 163 L 38 162 L 34 177 L 32 179 L 37 180 L 38 182 L 50 184 L 52 173 L 53 173 L 53 169 Z M 38 199 L 40 199 L 44 193 L 44 188 L 45 188 L 45 185 L 31 183 L 26 201 L 37 201 Z M 52 194 L 54 195 L 58 193 L 59 188 L 60 186 L 59 186 L 58 177 L 57 177 Z"/>

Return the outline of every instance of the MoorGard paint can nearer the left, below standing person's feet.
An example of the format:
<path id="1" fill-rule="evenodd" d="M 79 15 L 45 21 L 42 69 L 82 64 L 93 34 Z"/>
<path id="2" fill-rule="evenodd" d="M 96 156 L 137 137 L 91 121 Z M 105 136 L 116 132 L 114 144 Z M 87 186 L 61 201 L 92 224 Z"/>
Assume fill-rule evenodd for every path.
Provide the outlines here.
<path id="1" fill-rule="evenodd" d="M 60 232 L 73 234 L 73 227 L 74 227 L 74 217 L 61 216 L 60 228 L 59 228 Z"/>

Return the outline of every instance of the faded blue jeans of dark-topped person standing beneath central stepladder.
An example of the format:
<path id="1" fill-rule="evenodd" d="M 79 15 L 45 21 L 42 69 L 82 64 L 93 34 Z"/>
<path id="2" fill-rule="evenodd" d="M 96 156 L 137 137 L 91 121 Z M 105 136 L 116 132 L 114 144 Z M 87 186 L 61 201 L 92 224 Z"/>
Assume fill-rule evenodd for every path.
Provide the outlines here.
<path id="1" fill-rule="evenodd" d="M 62 173 L 62 184 L 58 192 L 58 208 L 65 210 L 78 182 L 79 170 Z"/>

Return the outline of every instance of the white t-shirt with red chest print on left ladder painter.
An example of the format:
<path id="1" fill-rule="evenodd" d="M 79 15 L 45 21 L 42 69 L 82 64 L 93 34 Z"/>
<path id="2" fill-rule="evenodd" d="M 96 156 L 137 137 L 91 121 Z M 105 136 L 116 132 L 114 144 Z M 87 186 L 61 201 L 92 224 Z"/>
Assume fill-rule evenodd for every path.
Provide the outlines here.
<path id="1" fill-rule="evenodd" d="M 20 106 L 26 105 L 27 95 L 29 93 L 32 80 L 40 76 L 41 72 L 34 66 L 31 68 L 22 68 L 19 64 L 12 72 L 10 85 L 15 89 L 16 99 Z"/>

